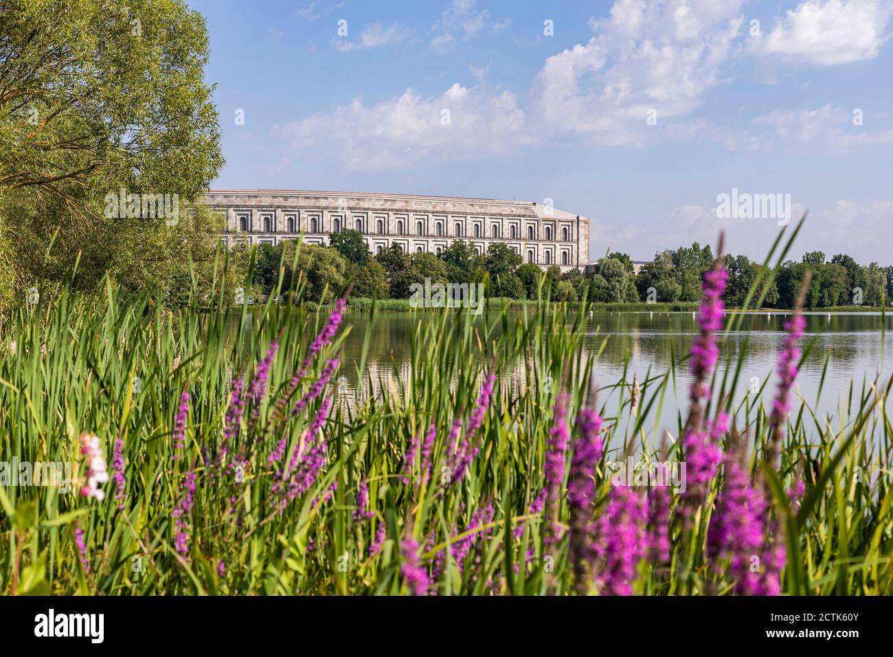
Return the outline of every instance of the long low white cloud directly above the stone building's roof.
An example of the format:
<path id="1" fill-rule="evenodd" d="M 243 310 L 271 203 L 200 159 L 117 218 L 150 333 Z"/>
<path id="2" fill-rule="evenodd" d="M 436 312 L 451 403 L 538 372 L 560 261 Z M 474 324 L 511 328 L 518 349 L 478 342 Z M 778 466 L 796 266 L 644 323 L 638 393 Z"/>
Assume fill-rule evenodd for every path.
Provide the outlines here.
<path id="1" fill-rule="evenodd" d="M 325 148 L 347 169 L 380 171 L 509 153 L 530 142 L 523 127 L 524 113 L 512 93 L 491 95 L 454 84 L 440 97 L 424 98 L 412 88 L 375 105 L 356 97 L 332 113 L 272 132 L 292 147 Z"/>

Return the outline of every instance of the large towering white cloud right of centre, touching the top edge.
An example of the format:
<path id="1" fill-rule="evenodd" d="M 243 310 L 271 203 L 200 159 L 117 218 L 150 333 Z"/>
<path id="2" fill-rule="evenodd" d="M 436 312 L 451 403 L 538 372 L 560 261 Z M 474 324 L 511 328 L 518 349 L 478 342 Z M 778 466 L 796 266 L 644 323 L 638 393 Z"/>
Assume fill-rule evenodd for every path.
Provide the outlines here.
<path id="1" fill-rule="evenodd" d="M 703 102 L 730 56 L 740 0 L 618 0 L 590 21 L 597 35 L 549 57 L 531 91 L 537 119 L 555 133 L 605 145 L 641 145 L 655 110 L 663 120 Z"/>

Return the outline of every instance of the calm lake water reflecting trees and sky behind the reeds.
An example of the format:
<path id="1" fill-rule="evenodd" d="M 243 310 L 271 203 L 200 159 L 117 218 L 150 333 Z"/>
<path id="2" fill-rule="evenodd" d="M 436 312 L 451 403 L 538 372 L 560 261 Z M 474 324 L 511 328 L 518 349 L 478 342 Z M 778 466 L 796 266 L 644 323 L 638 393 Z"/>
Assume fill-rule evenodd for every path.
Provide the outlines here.
<path id="1" fill-rule="evenodd" d="M 787 317 L 776 313 L 747 315 L 740 329 L 732 331 L 722 344 L 721 363 L 731 354 L 734 366 L 747 341 L 747 359 L 736 391 L 736 403 L 744 399 L 747 387 L 762 384 L 766 377 L 769 377 L 766 391 L 771 395 L 774 390 L 775 363 L 785 338 L 783 324 Z M 485 319 L 482 316 L 480 321 Z M 370 323 L 368 316 L 355 314 L 348 315 L 347 321 L 354 329 L 342 352 L 345 364 L 342 374 L 350 385 L 356 383 L 355 365 L 362 354 L 363 336 L 367 331 L 371 331 L 368 370 L 374 381 L 393 378 L 394 366 L 399 373 L 408 370 L 409 338 L 415 323 L 420 321 L 417 316 L 381 314 Z M 839 416 L 851 382 L 857 399 L 864 380 L 870 382 L 880 375 L 881 381 L 886 382 L 893 374 L 893 357 L 889 345 L 884 345 L 881 331 L 884 321 L 889 333 L 893 317 L 884 318 L 880 313 L 806 314 L 802 346 L 805 348 L 812 342 L 812 350 L 797 379 L 797 393 L 818 413 Z M 652 376 L 663 375 L 671 367 L 672 351 L 678 363 L 688 353 L 695 335 L 696 324 L 691 313 L 596 313 L 588 318 L 586 348 L 587 354 L 596 351 L 607 337 L 605 350 L 597 360 L 596 375 L 601 385 L 610 386 L 622 380 L 627 361 L 626 380 L 630 383 L 633 375 L 641 382 L 649 368 Z M 821 399 L 816 400 L 826 356 L 828 371 Z M 514 365 L 511 376 L 514 385 L 522 384 L 521 363 Z M 671 381 L 664 400 L 662 425 L 672 427 L 677 410 L 685 412 L 689 381 L 688 364 L 677 366 L 676 391 L 673 392 Z M 611 397 L 603 395 L 601 400 L 610 403 Z M 766 404 L 769 403 L 767 400 Z M 650 425 L 649 421 L 647 426 Z"/>

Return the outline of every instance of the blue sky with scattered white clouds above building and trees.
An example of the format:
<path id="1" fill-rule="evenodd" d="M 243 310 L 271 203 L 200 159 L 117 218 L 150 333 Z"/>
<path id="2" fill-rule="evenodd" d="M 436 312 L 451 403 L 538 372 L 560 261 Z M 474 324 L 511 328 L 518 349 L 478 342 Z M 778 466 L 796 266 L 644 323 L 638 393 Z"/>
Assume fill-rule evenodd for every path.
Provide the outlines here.
<path id="1" fill-rule="evenodd" d="M 796 257 L 893 265 L 893 0 L 188 2 L 213 187 L 550 198 L 633 259 L 762 257 L 776 218 L 718 197 L 789 194 Z"/>

